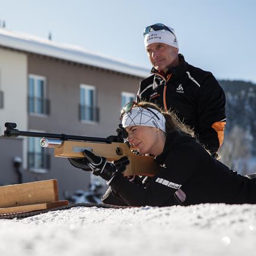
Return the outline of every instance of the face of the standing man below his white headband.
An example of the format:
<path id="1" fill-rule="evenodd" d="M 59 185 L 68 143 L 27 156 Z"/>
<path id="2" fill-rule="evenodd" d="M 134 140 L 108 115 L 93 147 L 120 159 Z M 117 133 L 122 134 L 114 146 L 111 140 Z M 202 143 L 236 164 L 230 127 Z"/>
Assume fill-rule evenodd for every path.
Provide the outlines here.
<path id="1" fill-rule="evenodd" d="M 153 67 L 166 73 L 169 67 L 179 65 L 178 48 L 162 42 L 154 42 L 146 47 L 147 56 Z"/>

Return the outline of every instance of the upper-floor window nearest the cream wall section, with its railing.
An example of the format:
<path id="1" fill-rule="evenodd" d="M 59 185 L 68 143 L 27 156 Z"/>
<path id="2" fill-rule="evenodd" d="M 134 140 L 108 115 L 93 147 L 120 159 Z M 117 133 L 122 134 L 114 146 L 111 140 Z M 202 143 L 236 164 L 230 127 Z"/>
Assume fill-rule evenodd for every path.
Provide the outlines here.
<path id="1" fill-rule="evenodd" d="M 45 77 L 28 76 L 28 113 L 49 114 Z"/>

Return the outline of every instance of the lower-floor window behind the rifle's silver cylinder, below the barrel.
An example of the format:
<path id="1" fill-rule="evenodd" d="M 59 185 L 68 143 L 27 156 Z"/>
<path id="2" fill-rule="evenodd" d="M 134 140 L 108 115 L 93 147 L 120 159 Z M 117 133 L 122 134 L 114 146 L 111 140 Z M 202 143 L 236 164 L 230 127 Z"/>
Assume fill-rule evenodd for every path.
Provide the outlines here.
<path id="1" fill-rule="evenodd" d="M 40 138 L 28 137 L 28 169 L 32 172 L 46 173 L 50 168 L 50 155 L 40 146 Z"/>

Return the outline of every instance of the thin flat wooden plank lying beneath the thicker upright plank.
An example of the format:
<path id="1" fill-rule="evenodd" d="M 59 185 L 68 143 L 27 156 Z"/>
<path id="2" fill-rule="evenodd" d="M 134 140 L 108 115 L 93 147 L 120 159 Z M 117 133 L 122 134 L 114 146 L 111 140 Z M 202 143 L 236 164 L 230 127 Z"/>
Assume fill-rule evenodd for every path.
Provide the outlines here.
<path id="1" fill-rule="evenodd" d="M 0 208 L 0 214 L 14 214 L 21 212 L 40 211 L 44 209 L 57 208 L 60 206 L 68 205 L 68 201 L 56 201 L 34 205 L 22 205 L 15 207 Z"/>

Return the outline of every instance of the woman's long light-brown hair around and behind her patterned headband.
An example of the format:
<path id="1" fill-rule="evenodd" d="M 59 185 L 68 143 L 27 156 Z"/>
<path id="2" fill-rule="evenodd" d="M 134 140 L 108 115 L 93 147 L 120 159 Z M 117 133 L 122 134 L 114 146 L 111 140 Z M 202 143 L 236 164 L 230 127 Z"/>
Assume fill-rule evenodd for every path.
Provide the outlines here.
<path id="1" fill-rule="evenodd" d="M 186 126 L 186 124 L 183 124 L 182 122 L 180 122 L 180 120 L 178 119 L 174 111 L 165 112 L 164 110 L 160 109 L 160 107 L 158 107 L 156 104 L 147 102 L 147 101 L 142 101 L 139 104 L 143 107 L 150 107 L 151 109 L 155 109 L 160 113 L 162 113 L 166 121 L 165 122 L 166 133 L 170 133 L 176 130 L 178 132 L 187 133 L 192 137 L 195 137 L 195 133 L 193 132 L 193 130 L 190 127 Z"/>

